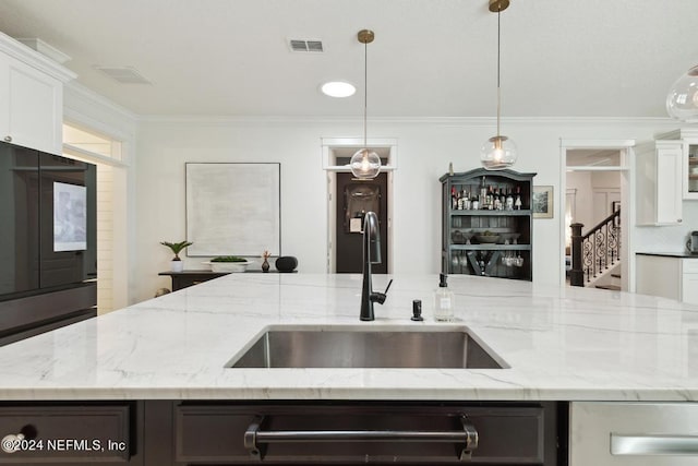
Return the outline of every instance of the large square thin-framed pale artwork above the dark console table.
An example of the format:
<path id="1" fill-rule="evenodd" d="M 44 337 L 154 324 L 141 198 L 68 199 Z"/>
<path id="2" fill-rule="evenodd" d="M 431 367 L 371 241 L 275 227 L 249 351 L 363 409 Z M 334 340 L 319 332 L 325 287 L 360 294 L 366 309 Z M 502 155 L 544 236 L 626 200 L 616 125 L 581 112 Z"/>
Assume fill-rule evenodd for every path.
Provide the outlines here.
<path id="1" fill-rule="evenodd" d="M 280 164 L 186 163 L 188 256 L 281 255 Z"/>

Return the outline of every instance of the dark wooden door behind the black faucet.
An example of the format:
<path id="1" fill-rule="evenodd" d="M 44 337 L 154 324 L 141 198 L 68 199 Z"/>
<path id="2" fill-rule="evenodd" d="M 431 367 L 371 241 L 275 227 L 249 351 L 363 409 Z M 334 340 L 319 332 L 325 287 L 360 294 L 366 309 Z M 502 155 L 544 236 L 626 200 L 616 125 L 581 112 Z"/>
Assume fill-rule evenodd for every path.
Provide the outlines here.
<path id="1" fill-rule="evenodd" d="M 385 274 L 388 270 L 388 175 L 378 174 L 372 180 L 358 180 L 351 174 L 337 174 L 335 204 L 337 228 L 335 249 L 337 273 L 361 273 L 363 266 L 363 235 L 360 225 L 366 212 L 378 216 L 381 229 L 382 263 L 373 265 L 373 273 Z"/>

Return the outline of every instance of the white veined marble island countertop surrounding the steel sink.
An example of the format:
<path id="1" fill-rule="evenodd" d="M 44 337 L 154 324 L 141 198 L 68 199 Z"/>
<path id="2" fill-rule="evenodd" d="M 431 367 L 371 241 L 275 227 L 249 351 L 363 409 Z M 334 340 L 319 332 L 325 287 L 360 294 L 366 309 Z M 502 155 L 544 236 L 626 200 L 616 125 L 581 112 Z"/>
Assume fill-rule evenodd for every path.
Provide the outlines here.
<path id="1" fill-rule="evenodd" d="M 384 289 L 390 276 L 375 275 Z M 231 274 L 0 348 L 0 399 L 698 401 L 698 307 L 609 290 L 393 276 L 359 320 L 358 275 Z M 412 322 L 413 299 L 424 322 Z M 467 326 L 508 369 L 228 369 L 269 325 Z"/>

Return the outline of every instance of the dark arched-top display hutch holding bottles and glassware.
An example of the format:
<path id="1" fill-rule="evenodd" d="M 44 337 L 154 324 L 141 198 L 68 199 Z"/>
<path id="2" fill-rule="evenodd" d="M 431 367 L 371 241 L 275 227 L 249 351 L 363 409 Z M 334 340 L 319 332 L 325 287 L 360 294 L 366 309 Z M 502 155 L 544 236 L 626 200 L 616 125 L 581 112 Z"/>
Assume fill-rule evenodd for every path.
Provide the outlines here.
<path id="1" fill-rule="evenodd" d="M 443 273 L 532 280 L 534 176 L 478 168 L 440 178 Z"/>

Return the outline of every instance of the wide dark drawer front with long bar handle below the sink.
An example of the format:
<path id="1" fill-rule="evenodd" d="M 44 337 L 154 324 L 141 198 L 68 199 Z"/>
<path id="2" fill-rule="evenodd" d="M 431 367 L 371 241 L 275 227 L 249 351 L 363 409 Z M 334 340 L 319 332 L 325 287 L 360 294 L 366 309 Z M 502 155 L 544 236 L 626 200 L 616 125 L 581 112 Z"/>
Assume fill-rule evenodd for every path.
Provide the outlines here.
<path id="1" fill-rule="evenodd" d="M 558 420 L 566 409 L 557 403 L 183 402 L 174 409 L 176 464 L 557 466 L 566 464 L 566 421 Z"/>

